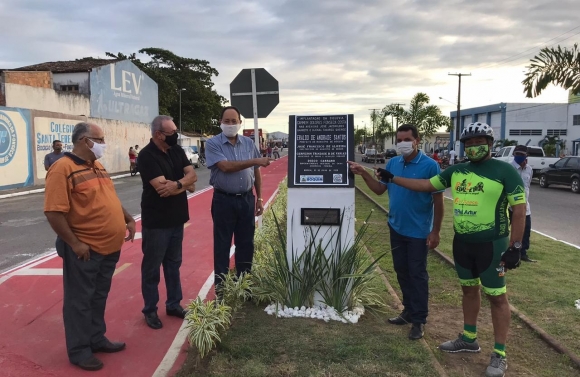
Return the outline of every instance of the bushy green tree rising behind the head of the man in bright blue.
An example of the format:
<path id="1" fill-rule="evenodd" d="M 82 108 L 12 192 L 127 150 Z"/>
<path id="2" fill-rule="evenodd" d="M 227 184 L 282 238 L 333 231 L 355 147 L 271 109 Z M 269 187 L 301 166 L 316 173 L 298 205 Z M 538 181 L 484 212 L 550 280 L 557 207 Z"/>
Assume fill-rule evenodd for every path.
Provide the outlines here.
<path id="1" fill-rule="evenodd" d="M 383 113 L 385 116 L 395 117 L 399 124 L 414 124 L 421 137 L 429 137 L 439 128 L 445 127 L 448 130 L 451 126 L 451 120 L 441 113 L 438 106 L 429 105 L 429 96 L 425 93 L 415 94 L 408 110 L 398 105 L 388 105 L 383 109 Z"/>

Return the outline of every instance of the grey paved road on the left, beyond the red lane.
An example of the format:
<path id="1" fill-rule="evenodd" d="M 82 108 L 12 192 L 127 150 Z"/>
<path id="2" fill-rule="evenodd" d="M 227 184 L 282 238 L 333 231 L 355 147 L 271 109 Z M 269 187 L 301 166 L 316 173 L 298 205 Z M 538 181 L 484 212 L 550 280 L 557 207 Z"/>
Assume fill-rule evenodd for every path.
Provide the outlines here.
<path id="1" fill-rule="evenodd" d="M 195 169 L 196 189 L 209 186 L 209 170 Z M 133 215 L 141 213 L 141 177 L 113 180 L 123 206 Z M 44 194 L 0 199 L 0 272 L 27 259 L 54 250 L 55 234 L 42 211 Z"/>

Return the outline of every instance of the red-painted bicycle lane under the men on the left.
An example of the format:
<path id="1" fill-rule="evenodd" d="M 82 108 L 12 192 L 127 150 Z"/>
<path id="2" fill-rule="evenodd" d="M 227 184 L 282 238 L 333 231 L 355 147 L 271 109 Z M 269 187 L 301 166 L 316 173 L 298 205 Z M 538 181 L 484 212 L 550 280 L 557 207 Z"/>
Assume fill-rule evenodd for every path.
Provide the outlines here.
<path id="1" fill-rule="evenodd" d="M 286 158 L 262 168 L 262 196 L 273 199 L 286 177 Z M 190 221 L 183 240 L 181 282 L 183 305 L 198 296 L 214 297 L 213 190 L 189 198 Z M 52 254 L 0 275 L 0 375 L 2 376 L 165 376 L 173 374 L 186 357 L 185 322 L 165 315 L 163 279 L 159 284 L 159 316 L 163 328 L 145 324 L 141 308 L 141 221 L 137 239 L 125 243 L 117 264 L 105 319 L 107 337 L 127 343 L 116 354 L 99 354 L 105 367 L 83 371 L 68 362 L 62 322 L 62 260 Z M 33 236 L 33 235 L 31 235 Z"/>

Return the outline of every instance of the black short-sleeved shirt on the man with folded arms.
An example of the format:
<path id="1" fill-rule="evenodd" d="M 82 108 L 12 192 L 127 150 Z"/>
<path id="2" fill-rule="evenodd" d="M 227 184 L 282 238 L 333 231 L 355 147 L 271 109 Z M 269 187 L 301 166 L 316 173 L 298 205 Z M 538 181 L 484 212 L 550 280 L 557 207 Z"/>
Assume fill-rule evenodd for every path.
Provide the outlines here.
<path id="1" fill-rule="evenodd" d="M 137 161 L 139 174 L 143 182 L 141 194 L 141 221 L 145 228 L 174 228 L 189 221 L 187 193 L 159 196 L 149 183 L 152 179 L 163 176 L 168 181 L 178 181 L 185 176 L 183 169 L 190 166 L 183 148 L 174 145 L 167 153 L 151 141 L 139 152 Z"/>

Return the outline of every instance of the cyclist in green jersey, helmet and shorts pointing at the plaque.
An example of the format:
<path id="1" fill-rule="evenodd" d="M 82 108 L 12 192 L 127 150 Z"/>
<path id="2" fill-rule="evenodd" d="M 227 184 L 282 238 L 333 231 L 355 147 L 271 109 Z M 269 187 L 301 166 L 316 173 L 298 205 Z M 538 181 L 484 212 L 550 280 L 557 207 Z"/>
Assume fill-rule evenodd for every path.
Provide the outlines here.
<path id="1" fill-rule="evenodd" d="M 526 218 L 526 197 L 521 177 L 508 163 L 491 159 L 493 129 L 471 123 L 462 134 L 468 163 L 448 167 L 431 179 L 395 177 L 387 170 L 377 176 L 415 191 L 451 188 L 453 196 L 453 258 L 463 290 L 463 333 L 439 346 L 445 352 L 479 352 L 477 317 L 481 288 L 491 304 L 495 346 L 486 370 L 488 377 L 503 377 L 507 369 L 505 344 L 511 319 L 506 296 L 505 271 L 520 265 Z M 511 233 L 507 205 L 513 209 Z"/>

